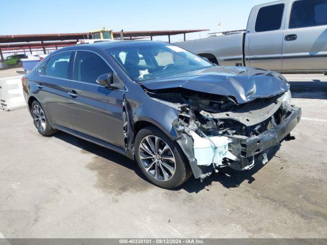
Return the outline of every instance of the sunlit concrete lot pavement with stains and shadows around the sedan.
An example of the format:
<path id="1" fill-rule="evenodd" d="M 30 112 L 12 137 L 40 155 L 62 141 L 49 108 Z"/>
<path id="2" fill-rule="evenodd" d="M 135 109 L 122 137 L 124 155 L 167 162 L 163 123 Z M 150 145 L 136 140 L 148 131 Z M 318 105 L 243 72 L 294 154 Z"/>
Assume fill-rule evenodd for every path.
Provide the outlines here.
<path id="1" fill-rule="evenodd" d="M 287 77 L 296 140 L 266 166 L 175 191 L 101 146 L 42 137 L 27 109 L 0 111 L 0 237 L 326 238 L 327 77 Z"/>

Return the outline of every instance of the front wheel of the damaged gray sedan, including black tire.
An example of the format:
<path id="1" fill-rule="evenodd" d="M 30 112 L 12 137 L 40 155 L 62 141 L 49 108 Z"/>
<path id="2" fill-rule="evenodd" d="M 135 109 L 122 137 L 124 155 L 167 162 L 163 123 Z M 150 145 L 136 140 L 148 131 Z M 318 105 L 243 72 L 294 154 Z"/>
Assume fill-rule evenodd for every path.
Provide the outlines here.
<path id="1" fill-rule="evenodd" d="M 147 179 L 161 188 L 179 187 L 192 175 L 179 145 L 155 127 L 137 133 L 135 158 Z"/>

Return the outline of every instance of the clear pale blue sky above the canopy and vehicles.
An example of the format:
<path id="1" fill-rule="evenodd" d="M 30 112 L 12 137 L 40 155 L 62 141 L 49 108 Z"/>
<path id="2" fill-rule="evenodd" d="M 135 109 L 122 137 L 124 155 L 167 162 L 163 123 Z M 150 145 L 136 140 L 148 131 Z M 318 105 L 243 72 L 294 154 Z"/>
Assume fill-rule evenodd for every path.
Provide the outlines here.
<path id="1" fill-rule="evenodd" d="M 0 0 L 0 35 L 114 31 L 245 29 L 253 6 L 270 0 Z M 221 22 L 221 26 L 218 23 Z M 201 37 L 206 37 L 201 33 Z M 199 38 L 186 34 L 186 38 Z M 172 36 L 172 41 L 182 36 Z M 156 40 L 167 41 L 167 37 Z"/>

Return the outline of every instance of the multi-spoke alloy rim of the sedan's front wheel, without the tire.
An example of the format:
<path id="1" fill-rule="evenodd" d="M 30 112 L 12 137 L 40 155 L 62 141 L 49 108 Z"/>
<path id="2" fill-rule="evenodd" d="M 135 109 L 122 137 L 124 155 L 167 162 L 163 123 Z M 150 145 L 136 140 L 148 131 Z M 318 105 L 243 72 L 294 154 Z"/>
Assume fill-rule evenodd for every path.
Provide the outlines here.
<path id="1" fill-rule="evenodd" d="M 173 178 L 176 160 L 169 145 L 161 138 L 149 135 L 142 139 L 138 149 L 143 168 L 155 180 L 169 181 Z"/>

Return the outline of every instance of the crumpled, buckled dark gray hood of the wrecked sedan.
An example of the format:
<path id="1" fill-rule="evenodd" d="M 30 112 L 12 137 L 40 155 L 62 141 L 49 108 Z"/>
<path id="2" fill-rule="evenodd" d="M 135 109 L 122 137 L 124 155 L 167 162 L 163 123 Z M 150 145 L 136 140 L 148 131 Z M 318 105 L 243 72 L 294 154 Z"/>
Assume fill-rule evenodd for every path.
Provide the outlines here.
<path id="1" fill-rule="evenodd" d="M 233 96 L 238 104 L 272 97 L 289 90 L 287 80 L 277 72 L 259 68 L 214 66 L 187 74 L 145 81 L 149 90 L 184 88 L 198 92 Z"/>

